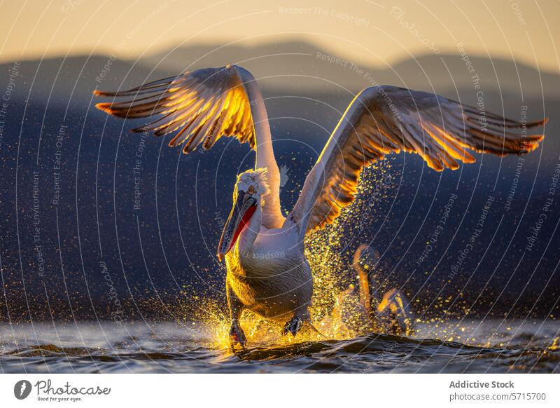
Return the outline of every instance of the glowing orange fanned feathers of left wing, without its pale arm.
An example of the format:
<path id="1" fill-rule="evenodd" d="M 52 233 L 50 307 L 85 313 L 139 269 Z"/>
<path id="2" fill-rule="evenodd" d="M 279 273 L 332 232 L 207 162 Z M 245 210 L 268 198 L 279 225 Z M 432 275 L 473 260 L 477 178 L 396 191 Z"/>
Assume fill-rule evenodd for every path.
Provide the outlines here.
<path id="1" fill-rule="evenodd" d="M 184 72 L 130 90 L 94 90 L 94 95 L 128 98 L 95 105 L 113 116 L 158 116 L 132 132 L 153 132 L 155 136 L 175 133 L 169 146 L 183 144 L 183 153 L 194 151 L 200 144 L 210 149 L 222 135 L 235 136 L 255 149 L 251 104 L 235 65 Z"/>

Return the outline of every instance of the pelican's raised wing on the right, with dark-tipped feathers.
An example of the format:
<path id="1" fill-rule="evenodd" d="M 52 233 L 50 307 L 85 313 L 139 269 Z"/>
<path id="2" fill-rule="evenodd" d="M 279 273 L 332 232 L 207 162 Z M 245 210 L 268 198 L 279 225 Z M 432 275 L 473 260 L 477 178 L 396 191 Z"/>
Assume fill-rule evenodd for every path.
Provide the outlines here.
<path id="1" fill-rule="evenodd" d="M 367 88 L 344 112 L 288 219 L 300 236 L 332 223 L 352 202 L 364 166 L 386 154 L 413 152 L 434 170 L 455 170 L 459 161 L 475 162 L 469 150 L 505 156 L 536 149 L 544 135 L 519 130 L 546 121 L 520 123 L 433 93 Z"/>

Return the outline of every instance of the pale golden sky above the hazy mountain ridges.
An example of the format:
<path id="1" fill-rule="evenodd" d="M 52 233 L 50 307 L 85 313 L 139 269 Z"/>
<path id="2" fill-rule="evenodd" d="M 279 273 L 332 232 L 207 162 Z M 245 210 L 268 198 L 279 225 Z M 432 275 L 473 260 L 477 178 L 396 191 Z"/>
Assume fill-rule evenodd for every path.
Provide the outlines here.
<path id="1" fill-rule="evenodd" d="M 560 72 L 559 15 L 559 0 L 4 0 L 0 62 L 297 39 L 379 67 L 463 48 Z"/>

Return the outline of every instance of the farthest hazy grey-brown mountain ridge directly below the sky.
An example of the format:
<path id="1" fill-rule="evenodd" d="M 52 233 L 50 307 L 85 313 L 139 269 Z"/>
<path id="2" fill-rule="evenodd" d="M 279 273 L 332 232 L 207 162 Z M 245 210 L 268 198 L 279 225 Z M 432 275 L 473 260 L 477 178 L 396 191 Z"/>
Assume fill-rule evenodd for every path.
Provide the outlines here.
<path id="1" fill-rule="evenodd" d="M 560 76 L 539 72 L 511 60 L 468 55 L 431 54 L 395 62 L 384 67 L 368 66 L 344 55 L 305 42 L 266 43 L 260 46 L 195 45 L 167 50 L 141 58 L 139 64 L 167 72 L 242 64 L 263 86 L 283 91 L 330 90 L 356 92 L 374 84 L 390 83 L 411 89 L 435 90 L 456 95 L 474 89 L 478 76 L 486 92 L 515 93 L 524 97 L 560 97 Z M 541 86 L 542 83 L 542 86 Z"/>

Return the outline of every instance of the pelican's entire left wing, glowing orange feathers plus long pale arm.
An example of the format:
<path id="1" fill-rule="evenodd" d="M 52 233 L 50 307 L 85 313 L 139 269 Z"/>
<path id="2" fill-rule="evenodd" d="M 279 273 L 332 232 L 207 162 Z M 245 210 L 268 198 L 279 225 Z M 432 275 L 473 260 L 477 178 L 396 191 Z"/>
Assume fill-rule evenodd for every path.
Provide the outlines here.
<path id="1" fill-rule="evenodd" d="M 152 132 L 155 136 L 173 134 L 169 146 L 182 144 L 183 153 L 190 153 L 201 144 L 204 149 L 210 149 L 223 135 L 250 144 L 257 153 L 256 167 L 268 170 L 270 193 L 263 204 L 262 222 L 267 228 L 283 224 L 280 173 L 272 151 L 266 107 L 254 76 L 246 69 L 237 65 L 198 69 L 130 90 L 95 90 L 94 95 L 113 97 L 113 102 L 95 105 L 113 116 L 155 116 L 153 122 L 132 132 Z M 120 97 L 127 100 L 118 102 L 116 99 Z"/>

